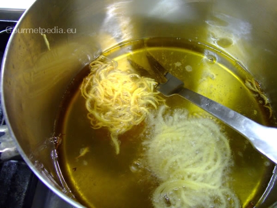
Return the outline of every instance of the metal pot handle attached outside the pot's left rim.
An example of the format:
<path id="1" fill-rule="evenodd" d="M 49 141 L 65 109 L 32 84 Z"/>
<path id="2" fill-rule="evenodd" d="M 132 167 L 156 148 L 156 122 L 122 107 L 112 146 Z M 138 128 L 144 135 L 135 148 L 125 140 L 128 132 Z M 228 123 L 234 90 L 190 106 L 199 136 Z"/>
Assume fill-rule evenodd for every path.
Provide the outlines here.
<path id="1" fill-rule="evenodd" d="M 20 158 L 13 138 L 10 136 L 7 125 L 0 126 L 0 163 Z"/>

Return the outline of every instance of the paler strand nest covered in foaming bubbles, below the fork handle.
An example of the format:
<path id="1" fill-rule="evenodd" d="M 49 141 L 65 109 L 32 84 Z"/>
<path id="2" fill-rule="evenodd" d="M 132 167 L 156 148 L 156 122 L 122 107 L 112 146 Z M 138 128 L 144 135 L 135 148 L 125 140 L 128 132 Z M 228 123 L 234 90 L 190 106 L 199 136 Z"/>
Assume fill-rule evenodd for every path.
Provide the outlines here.
<path id="1" fill-rule="evenodd" d="M 149 170 L 159 178 L 155 207 L 240 207 L 228 187 L 232 164 L 228 139 L 210 118 L 189 118 L 184 110 L 159 110 L 154 137 L 144 142 Z"/>

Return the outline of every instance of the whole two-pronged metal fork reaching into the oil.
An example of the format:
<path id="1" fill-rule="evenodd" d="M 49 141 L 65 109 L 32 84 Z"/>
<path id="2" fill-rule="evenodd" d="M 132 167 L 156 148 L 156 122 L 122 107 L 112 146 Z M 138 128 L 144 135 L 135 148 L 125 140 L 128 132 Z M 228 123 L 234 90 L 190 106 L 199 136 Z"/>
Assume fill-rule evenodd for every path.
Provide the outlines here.
<path id="1" fill-rule="evenodd" d="M 185 88 L 184 83 L 167 72 L 152 55 L 147 53 L 146 57 L 152 70 L 143 68 L 131 59 L 129 62 L 139 72 L 155 79 L 159 83 L 158 91 L 165 96 L 177 94 L 194 103 L 243 135 L 258 151 L 277 164 L 277 128 L 261 125 L 214 100 Z"/>

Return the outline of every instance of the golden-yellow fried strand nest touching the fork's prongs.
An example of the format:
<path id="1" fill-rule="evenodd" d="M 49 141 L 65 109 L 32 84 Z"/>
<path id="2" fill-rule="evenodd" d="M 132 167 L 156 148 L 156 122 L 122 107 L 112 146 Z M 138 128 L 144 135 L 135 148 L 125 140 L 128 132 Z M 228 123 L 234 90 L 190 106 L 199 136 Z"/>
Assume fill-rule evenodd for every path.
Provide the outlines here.
<path id="1" fill-rule="evenodd" d="M 155 91 L 155 80 L 129 70 L 117 69 L 117 62 L 100 56 L 89 64 L 90 73 L 81 85 L 87 117 L 94 129 L 107 127 L 119 153 L 118 135 L 138 125 L 165 100 Z"/>

